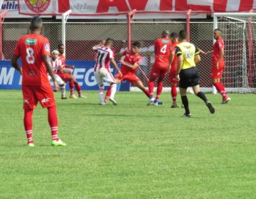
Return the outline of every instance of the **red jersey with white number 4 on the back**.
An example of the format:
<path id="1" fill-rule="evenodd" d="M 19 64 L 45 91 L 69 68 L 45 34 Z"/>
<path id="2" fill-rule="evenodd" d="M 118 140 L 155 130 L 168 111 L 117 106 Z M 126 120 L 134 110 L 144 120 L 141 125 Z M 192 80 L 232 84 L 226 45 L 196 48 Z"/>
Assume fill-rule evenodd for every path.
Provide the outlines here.
<path id="1" fill-rule="evenodd" d="M 168 67 L 171 54 L 171 39 L 157 38 L 154 42 L 155 64 Z"/>

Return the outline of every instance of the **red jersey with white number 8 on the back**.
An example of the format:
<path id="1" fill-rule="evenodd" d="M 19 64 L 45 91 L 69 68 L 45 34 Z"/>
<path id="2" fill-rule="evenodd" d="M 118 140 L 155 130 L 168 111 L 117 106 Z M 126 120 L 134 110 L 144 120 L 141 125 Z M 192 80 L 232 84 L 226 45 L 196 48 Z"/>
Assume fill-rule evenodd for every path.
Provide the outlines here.
<path id="1" fill-rule="evenodd" d="M 48 38 L 41 35 L 28 34 L 21 37 L 14 50 L 14 55 L 21 58 L 22 85 L 49 84 L 43 55 L 50 55 Z"/>

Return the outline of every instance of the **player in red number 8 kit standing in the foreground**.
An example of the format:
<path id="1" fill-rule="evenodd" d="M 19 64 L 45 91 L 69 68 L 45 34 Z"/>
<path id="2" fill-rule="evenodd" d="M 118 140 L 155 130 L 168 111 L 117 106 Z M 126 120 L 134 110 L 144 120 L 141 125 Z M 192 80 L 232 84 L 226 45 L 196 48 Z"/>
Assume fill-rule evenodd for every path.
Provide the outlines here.
<path id="1" fill-rule="evenodd" d="M 28 146 L 33 147 L 33 109 L 40 102 L 43 108 L 48 109 L 48 122 L 50 124 L 53 146 L 66 146 L 58 138 L 58 118 L 52 87 L 47 77 L 47 72 L 53 80 L 55 90 L 58 82 L 55 80 L 50 63 L 50 43 L 48 38 L 41 36 L 43 28 L 42 19 L 38 16 L 31 21 L 30 31 L 21 37 L 11 58 L 11 65 L 22 75 L 22 93 L 24 109 L 24 127 L 28 139 Z M 22 68 L 18 65 L 21 58 Z"/>

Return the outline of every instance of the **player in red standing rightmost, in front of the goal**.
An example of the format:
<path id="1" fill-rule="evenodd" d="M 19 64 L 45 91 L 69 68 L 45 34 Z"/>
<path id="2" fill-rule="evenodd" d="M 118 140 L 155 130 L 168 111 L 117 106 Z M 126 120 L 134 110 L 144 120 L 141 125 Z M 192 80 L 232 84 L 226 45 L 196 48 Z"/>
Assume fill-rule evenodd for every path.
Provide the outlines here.
<path id="1" fill-rule="evenodd" d="M 222 104 L 228 103 L 231 98 L 228 97 L 227 92 L 225 92 L 225 87 L 223 83 L 220 81 L 223 69 L 225 67 L 224 62 L 224 41 L 221 36 L 222 31 L 220 29 L 215 29 L 213 31 L 213 37 L 216 40 L 213 44 L 213 63 L 211 68 L 211 81 L 212 84 L 216 87 L 216 90 L 223 97 Z"/>

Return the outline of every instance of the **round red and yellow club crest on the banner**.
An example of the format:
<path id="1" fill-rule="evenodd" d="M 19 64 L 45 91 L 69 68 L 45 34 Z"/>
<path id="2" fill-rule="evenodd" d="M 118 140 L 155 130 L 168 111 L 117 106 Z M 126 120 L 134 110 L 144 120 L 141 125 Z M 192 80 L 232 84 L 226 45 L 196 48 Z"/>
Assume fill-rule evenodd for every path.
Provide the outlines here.
<path id="1" fill-rule="evenodd" d="M 25 4 L 34 13 L 43 13 L 48 9 L 50 0 L 25 0 Z"/>

